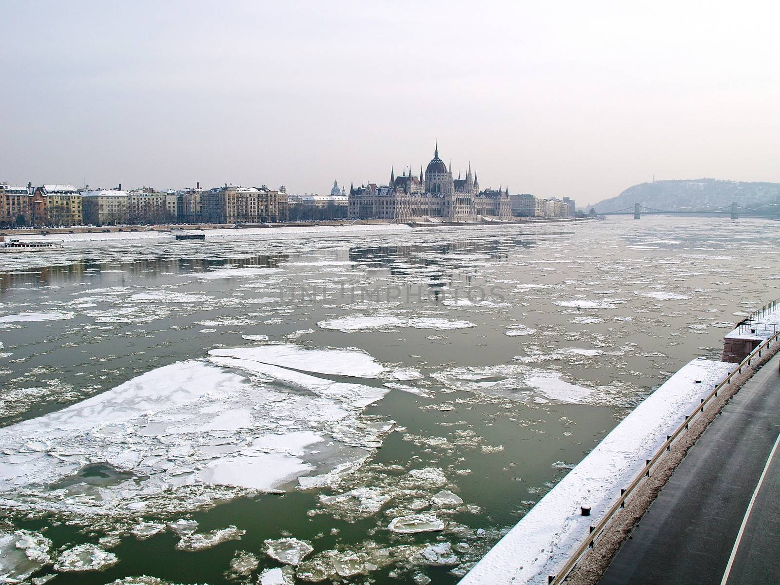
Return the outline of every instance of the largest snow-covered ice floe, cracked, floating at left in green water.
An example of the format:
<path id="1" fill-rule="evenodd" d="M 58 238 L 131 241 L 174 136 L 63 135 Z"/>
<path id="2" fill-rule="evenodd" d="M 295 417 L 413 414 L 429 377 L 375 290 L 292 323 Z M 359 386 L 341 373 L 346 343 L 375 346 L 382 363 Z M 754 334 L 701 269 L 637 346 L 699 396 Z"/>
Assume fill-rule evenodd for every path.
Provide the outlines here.
<path id="1" fill-rule="evenodd" d="M 82 516 L 179 510 L 229 497 L 209 486 L 284 488 L 302 475 L 359 464 L 381 446 L 392 424 L 363 421 L 361 413 L 387 388 L 260 360 L 395 379 L 392 368 L 355 349 L 285 343 L 214 350 L 0 429 L 0 499 L 16 509 Z M 105 479 L 90 479 L 90 469 Z M 186 504 L 176 503 L 177 490 L 191 496 L 193 489 L 197 498 L 185 494 Z"/>

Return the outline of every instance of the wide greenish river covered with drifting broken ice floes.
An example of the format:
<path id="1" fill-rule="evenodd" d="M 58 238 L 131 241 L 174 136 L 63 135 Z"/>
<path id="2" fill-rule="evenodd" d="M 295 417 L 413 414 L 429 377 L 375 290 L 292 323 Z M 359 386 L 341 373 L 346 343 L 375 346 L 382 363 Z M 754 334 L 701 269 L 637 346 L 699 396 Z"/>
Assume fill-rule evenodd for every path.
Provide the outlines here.
<path id="1" fill-rule="evenodd" d="M 456 583 L 780 296 L 758 220 L 268 233 L 2 259 L 0 576 Z"/>

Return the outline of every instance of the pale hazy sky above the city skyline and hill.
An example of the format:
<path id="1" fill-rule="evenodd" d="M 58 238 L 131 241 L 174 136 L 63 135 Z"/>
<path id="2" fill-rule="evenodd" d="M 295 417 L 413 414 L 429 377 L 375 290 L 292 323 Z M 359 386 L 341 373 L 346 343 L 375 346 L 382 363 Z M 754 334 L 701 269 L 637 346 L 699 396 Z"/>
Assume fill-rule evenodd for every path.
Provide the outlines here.
<path id="1" fill-rule="evenodd" d="M 0 181 L 780 182 L 778 5 L 2 0 Z"/>

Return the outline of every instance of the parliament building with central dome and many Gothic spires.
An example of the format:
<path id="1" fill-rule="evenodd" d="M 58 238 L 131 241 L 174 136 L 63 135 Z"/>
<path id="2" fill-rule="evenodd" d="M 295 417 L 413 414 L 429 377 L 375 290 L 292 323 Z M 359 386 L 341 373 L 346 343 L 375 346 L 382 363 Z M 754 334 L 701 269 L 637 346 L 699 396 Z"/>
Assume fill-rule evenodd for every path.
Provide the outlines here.
<path id="1" fill-rule="evenodd" d="M 512 219 L 509 188 L 480 191 L 477 173 L 471 165 L 466 177 L 452 176 L 439 158 L 438 144 L 434 158 L 423 174 L 414 176 L 411 168 L 400 176 L 390 172 L 390 183 L 349 187 L 349 217 L 353 219 L 389 219 L 399 222 L 480 222 Z"/>

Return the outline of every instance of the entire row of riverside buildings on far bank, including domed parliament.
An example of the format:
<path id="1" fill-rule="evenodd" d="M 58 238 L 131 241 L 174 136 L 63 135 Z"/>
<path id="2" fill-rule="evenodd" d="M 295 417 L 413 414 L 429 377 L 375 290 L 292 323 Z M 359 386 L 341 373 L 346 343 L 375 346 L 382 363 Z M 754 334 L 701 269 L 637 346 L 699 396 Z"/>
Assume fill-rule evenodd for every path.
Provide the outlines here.
<path id="1" fill-rule="evenodd" d="M 411 167 L 399 176 L 391 169 L 387 185 L 350 186 L 349 194 L 334 181 L 329 195 L 288 195 L 285 187 L 224 185 L 214 189 L 157 191 L 76 189 L 72 185 L 33 187 L 0 183 L 0 225 L 126 225 L 164 223 L 264 223 L 349 218 L 467 222 L 509 220 L 516 216 L 567 218 L 576 215 L 569 197 L 541 199 L 509 195 L 509 187 L 480 190 L 477 173 L 457 179 L 439 158 L 438 145 L 425 172 Z"/>

